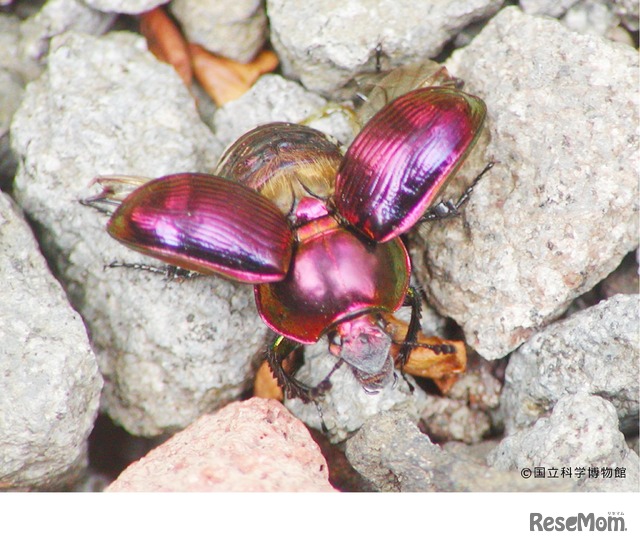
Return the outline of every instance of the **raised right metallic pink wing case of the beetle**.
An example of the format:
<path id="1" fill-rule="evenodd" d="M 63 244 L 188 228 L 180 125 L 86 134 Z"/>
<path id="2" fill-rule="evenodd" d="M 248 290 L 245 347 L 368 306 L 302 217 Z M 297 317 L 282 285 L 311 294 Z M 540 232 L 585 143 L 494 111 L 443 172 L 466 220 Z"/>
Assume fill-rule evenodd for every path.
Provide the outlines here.
<path id="1" fill-rule="evenodd" d="M 452 87 L 417 89 L 387 104 L 345 154 L 336 210 L 378 242 L 408 231 L 463 162 L 485 115 L 482 100 Z"/>

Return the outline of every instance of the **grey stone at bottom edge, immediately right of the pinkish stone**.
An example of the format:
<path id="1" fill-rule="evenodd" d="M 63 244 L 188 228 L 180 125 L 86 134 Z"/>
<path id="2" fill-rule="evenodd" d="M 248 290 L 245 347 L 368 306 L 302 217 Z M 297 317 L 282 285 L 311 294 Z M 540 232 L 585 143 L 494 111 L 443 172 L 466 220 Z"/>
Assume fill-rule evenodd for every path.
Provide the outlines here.
<path id="1" fill-rule="evenodd" d="M 570 482 L 525 480 L 445 451 L 399 411 L 371 418 L 346 445 L 353 467 L 382 492 L 567 492 Z"/>

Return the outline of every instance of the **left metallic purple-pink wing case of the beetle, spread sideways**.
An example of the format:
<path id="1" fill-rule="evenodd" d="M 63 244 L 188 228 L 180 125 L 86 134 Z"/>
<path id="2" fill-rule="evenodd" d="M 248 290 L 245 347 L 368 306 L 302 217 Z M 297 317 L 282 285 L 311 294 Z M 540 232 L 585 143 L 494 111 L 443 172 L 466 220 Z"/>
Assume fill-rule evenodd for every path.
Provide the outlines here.
<path id="1" fill-rule="evenodd" d="M 240 282 L 282 280 L 293 234 L 274 204 L 207 174 L 173 174 L 133 191 L 111 216 L 111 236 L 158 259 Z"/>

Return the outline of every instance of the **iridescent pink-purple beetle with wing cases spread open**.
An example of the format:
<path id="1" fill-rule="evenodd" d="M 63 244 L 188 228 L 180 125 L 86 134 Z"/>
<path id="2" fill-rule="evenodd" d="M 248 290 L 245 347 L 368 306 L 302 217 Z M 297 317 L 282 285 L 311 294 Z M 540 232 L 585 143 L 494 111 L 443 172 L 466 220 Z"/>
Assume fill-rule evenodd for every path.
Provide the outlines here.
<path id="1" fill-rule="evenodd" d="M 420 327 L 399 236 L 457 214 L 468 193 L 432 206 L 485 115 L 481 99 L 447 82 L 386 104 L 344 157 L 314 129 L 273 123 L 232 144 L 215 175 L 181 173 L 142 185 L 104 178 L 104 191 L 89 201 L 117 205 L 107 230 L 134 250 L 255 284 L 258 312 L 276 333 L 269 365 L 288 396 L 308 401 L 328 386 L 329 377 L 310 388 L 282 367 L 300 344 L 323 335 L 339 358 L 336 368 L 346 362 L 375 392 L 393 379 L 394 363 L 407 360 Z M 382 313 L 403 304 L 412 317 L 394 362 Z"/>

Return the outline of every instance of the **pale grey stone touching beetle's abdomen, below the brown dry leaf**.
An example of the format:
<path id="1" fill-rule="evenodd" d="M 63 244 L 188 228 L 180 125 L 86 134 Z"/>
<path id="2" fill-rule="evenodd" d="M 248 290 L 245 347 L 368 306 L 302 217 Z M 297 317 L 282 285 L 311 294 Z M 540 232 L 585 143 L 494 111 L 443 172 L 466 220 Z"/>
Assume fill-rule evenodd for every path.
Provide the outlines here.
<path id="1" fill-rule="evenodd" d="M 258 125 L 286 121 L 305 122 L 342 143 L 351 141 L 353 128 L 345 112 L 338 109 L 324 115 L 326 106 L 324 98 L 298 83 L 269 74 L 262 76 L 242 97 L 216 110 L 216 136 L 227 146 Z"/>

